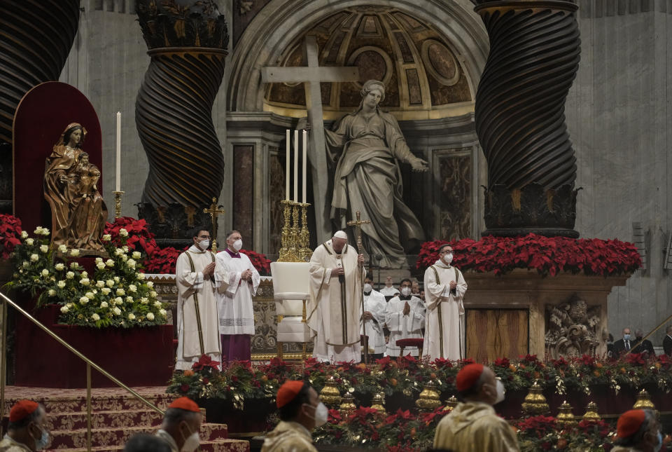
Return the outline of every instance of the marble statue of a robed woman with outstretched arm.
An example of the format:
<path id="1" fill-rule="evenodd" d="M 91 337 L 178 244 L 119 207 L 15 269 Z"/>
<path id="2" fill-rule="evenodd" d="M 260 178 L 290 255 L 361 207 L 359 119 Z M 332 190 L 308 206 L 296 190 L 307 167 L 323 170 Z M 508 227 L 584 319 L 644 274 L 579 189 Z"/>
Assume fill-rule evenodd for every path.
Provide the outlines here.
<path id="1" fill-rule="evenodd" d="M 382 254 L 381 266 L 406 268 L 405 249 L 424 234 L 418 219 L 402 200 L 399 163 L 426 171 L 425 160 L 409 150 L 395 118 L 379 109 L 382 82 L 370 80 L 361 90 L 359 108 L 344 116 L 334 131 L 325 130 L 328 150 L 339 156 L 334 176 L 331 218 L 340 226 L 360 211 L 370 224 L 362 225 L 369 254 Z"/>

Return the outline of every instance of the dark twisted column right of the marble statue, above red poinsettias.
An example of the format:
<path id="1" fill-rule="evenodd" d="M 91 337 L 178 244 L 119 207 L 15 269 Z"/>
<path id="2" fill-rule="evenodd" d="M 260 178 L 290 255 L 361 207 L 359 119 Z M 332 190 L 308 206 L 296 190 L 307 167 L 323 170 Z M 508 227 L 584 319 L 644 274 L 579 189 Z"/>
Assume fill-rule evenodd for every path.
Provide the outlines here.
<path id="1" fill-rule="evenodd" d="M 485 234 L 578 236 L 576 158 L 564 114 L 580 60 L 577 5 L 477 3 L 490 38 L 475 105 L 488 163 Z"/>

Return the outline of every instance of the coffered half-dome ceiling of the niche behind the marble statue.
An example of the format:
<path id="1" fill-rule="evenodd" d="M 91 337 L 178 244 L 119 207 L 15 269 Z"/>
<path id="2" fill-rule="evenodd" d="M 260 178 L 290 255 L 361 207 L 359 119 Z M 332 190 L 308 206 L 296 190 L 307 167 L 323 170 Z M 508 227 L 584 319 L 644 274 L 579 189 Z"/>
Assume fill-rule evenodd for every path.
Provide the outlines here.
<path id="1" fill-rule="evenodd" d="M 458 116 L 473 111 L 473 89 L 460 55 L 439 32 L 391 8 L 351 8 L 321 20 L 297 38 L 275 64 L 304 66 L 304 36 L 316 36 L 320 66 L 357 66 L 359 82 L 321 83 L 325 119 L 360 102 L 363 81 L 386 86 L 381 107 L 399 119 Z M 304 116 L 302 83 L 270 83 L 265 110 Z"/>

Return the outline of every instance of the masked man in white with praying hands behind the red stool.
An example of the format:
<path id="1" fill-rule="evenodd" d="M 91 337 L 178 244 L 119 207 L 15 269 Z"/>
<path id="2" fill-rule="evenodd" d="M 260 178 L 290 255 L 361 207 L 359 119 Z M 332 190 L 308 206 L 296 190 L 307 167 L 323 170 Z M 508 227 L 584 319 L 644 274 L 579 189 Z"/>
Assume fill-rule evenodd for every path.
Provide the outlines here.
<path id="1" fill-rule="evenodd" d="M 411 280 L 404 278 L 400 282 L 400 294 L 388 301 L 385 313 L 390 340 L 387 343 L 387 354 L 398 357 L 401 348 L 397 346 L 399 339 L 421 338 L 425 326 L 425 306 L 422 300 L 411 294 Z M 406 355 L 419 356 L 417 347 L 404 348 Z"/>

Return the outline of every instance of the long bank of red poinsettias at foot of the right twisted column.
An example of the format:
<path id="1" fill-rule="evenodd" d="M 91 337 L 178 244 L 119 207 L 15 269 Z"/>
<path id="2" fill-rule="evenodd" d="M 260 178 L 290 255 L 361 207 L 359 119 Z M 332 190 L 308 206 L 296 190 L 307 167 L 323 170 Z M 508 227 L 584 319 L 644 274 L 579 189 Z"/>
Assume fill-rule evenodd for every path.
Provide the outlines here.
<path id="1" fill-rule="evenodd" d="M 424 242 L 416 268 L 424 269 L 439 259 L 441 245 L 454 249 L 453 262 L 461 270 L 492 271 L 496 275 L 514 268 L 537 270 L 540 275 L 560 272 L 585 275 L 626 275 L 642 266 L 635 245 L 620 240 L 573 239 L 528 234 L 524 237 L 495 237 L 481 240 L 435 240 Z"/>

